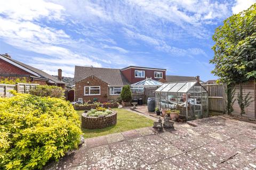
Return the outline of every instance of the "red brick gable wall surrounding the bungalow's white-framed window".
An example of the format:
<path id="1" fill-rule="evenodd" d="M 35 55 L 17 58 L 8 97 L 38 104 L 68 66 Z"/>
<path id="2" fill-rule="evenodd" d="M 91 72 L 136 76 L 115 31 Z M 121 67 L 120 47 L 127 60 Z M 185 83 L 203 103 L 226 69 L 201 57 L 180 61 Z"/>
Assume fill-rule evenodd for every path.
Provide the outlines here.
<path id="1" fill-rule="evenodd" d="M 87 82 L 89 82 L 89 84 Z M 85 86 L 100 86 L 100 95 L 84 96 Z M 98 98 L 98 101 L 102 103 L 107 102 L 108 84 L 95 76 L 87 77 L 75 84 L 75 101 L 77 101 L 78 98 L 83 98 L 84 101 L 93 101 L 93 98 Z"/>

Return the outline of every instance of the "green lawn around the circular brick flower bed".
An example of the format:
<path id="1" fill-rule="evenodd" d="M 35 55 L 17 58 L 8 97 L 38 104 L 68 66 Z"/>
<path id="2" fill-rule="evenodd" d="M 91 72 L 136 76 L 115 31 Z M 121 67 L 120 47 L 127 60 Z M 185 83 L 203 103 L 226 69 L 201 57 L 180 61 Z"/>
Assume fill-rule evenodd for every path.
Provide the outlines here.
<path id="1" fill-rule="evenodd" d="M 84 138 L 98 137 L 111 133 L 118 133 L 123 131 L 129 131 L 138 128 L 145 128 L 153 125 L 153 120 L 147 117 L 135 114 L 133 112 L 126 111 L 122 108 L 114 109 L 117 112 L 117 124 L 102 129 L 83 129 Z M 80 116 L 83 111 L 76 111 Z"/>

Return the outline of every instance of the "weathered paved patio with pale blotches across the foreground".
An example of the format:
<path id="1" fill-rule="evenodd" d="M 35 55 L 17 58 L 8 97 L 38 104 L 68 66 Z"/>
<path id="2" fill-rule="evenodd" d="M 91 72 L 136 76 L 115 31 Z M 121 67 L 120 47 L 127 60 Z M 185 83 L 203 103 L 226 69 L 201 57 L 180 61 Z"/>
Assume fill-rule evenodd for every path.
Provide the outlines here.
<path id="1" fill-rule="evenodd" d="M 256 169 L 256 124 L 215 116 L 86 139 L 45 169 Z"/>

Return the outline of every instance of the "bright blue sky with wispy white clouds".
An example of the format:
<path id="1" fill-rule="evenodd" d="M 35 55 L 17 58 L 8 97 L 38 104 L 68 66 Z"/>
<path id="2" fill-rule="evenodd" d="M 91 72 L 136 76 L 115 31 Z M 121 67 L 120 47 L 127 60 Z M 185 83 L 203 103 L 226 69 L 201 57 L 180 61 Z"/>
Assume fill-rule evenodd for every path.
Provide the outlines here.
<path id="1" fill-rule="evenodd" d="M 57 75 L 75 65 L 166 69 L 217 79 L 215 28 L 256 0 L 0 0 L 0 53 Z"/>

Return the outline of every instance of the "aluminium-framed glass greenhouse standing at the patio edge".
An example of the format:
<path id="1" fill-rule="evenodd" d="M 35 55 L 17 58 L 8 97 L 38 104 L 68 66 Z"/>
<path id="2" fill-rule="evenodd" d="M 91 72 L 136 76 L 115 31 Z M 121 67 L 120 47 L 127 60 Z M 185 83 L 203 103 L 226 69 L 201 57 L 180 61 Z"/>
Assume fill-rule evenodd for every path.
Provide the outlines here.
<path id="1" fill-rule="evenodd" d="M 155 91 L 155 106 L 180 111 L 186 120 L 208 117 L 208 93 L 197 81 L 165 83 Z"/>

